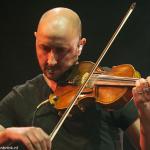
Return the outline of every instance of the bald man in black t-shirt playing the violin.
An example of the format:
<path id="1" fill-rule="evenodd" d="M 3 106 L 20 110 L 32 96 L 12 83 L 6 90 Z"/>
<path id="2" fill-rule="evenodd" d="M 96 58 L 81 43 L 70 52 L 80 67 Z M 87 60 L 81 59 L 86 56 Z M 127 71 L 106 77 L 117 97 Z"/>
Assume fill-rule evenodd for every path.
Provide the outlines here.
<path id="1" fill-rule="evenodd" d="M 67 8 L 47 11 L 34 34 L 42 74 L 15 86 L 0 102 L 0 144 L 19 141 L 29 150 L 119 150 L 119 128 L 126 130 L 138 118 L 133 101 L 116 112 L 97 105 L 68 117 L 51 146 L 49 134 L 61 115 L 45 100 L 78 65 L 86 39 L 79 16 Z"/>

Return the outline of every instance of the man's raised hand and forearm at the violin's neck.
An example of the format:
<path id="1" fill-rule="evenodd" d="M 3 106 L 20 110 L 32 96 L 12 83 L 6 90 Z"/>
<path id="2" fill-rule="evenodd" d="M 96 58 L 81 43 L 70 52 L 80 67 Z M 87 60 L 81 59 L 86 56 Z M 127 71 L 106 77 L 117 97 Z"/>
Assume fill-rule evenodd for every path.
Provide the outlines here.
<path id="1" fill-rule="evenodd" d="M 140 115 L 140 146 L 150 150 L 150 77 L 136 82 L 133 97 Z"/>

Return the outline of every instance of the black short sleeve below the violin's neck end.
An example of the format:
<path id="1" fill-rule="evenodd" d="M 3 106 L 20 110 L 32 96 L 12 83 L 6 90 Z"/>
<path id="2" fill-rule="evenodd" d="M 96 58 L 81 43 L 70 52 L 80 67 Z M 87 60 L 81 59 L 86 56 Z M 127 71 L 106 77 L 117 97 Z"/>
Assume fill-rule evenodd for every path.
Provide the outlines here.
<path id="1" fill-rule="evenodd" d="M 112 112 L 116 124 L 122 130 L 126 130 L 139 116 L 138 110 L 130 100 L 123 108 Z"/>

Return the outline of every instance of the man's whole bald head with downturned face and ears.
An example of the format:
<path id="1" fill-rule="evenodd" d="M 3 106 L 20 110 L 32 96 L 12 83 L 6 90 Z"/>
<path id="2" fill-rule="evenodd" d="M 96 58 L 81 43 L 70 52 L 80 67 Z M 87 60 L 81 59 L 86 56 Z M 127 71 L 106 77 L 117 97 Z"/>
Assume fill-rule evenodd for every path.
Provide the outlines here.
<path id="1" fill-rule="evenodd" d="M 54 8 L 40 19 L 36 36 L 39 65 L 49 79 L 57 79 L 75 64 L 86 39 L 81 39 L 79 16 L 68 8 Z"/>

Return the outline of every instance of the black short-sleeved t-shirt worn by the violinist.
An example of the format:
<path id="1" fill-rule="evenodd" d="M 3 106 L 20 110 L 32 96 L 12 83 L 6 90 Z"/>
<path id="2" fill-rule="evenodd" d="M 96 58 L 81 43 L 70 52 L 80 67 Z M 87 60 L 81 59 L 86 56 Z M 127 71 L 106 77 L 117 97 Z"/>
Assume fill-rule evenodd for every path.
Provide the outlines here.
<path id="1" fill-rule="evenodd" d="M 4 127 L 31 126 L 36 107 L 48 99 L 52 91 L 42 75 L 16 86 L 0 102 L 0 124 Z M 34 126 L 50 134 L 60 119 L 50 103 L 36 112 Z M 125 130 L 137 118 L 133 101 L 124 108 L 108 112 L 99 104 L 95 109 L 77 113 L 65 120 L 52 142 L 52 150 L 117 150 L 119 128 Z"/>

